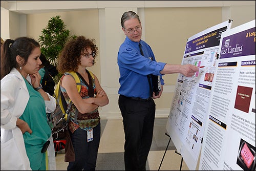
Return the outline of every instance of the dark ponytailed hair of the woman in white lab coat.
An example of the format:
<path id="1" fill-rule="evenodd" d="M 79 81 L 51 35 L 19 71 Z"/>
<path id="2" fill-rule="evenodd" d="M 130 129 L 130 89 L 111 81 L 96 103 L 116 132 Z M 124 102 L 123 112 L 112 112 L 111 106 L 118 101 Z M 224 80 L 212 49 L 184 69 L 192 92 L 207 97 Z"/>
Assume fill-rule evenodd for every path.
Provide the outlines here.
<path id="1" fill-rule="evenodd" d="M 39 43 L 33 38 L 18 37 L 15 40 L 6 39 L 3 45 L 3 57 L 1 61 L 1 79 L 10 73 L 12 68 L 23 67 L 28 62 L 29 55 L 36 47 L 40 48 Z M 16 61 L 16 56 L 24 58 L 23 66 Z"/>

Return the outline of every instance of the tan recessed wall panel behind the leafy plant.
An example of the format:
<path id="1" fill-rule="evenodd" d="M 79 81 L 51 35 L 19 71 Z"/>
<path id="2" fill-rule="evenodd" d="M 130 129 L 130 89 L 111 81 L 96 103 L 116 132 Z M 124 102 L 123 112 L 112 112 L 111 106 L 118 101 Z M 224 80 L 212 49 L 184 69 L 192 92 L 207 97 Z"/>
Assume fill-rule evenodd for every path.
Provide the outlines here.
<path id="1" fill-rule="evenodd" d="M 70 35 L 83 35 L 88 38 L 94 38 L 96 45 L 99 47 L 99 15 L 98 9 L 52 12 L 27 15 L 27 36 L 39 39 L 42 29 L 46 28 L 51 17 L 59 15 L 70 30 Z M 99 54 L 100 56 L 100 54 Z M 100 57 L 97 57 L 96 65 L 91 67 L 100 79 Z"/>

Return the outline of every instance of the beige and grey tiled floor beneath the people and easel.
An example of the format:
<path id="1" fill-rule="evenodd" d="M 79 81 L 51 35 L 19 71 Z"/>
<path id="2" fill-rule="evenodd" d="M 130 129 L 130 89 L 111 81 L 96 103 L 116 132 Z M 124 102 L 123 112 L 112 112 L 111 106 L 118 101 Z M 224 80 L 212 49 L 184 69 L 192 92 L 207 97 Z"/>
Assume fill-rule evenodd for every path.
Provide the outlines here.
<path id="1" fill-rule="evenodd" d="M 154 137 L 147 158 L 146 170 L 180 170 L 180 166 L 182 166 L 181 170 L 188 170 L 186 163 L 184 161 L 181 163 L 181 156 L 175 153 L 175 146 L 172 141 L 170 141 L 165 153 L 169 141 L 169 137 L 165 135 L 166 122 L 167 118 L 156 118 L 155 120 Z M 122 119 L 102 119 L 96 170 L 124 170 L 123 145 Z M 64 153 L 62 150 L 56 156 L 57 170 L 67 170 L 68 163 L 64 162 Z"/>

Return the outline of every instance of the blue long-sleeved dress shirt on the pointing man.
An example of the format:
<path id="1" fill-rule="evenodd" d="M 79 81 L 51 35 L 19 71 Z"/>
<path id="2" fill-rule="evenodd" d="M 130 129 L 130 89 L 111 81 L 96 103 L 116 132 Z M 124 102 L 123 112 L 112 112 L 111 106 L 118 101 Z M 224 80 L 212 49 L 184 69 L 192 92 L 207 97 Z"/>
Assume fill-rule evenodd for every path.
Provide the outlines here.
<path id="1" fill-rule="evenodd" d="M 140 54 L 139 44 L 144 56 Z M 160 75 L 161 84 L 164 84 L 160 71 L 166 63 L 157 62 L 151 47 L 143 40 L 135 42 L 126 36 L 118 51 L 117 64 L 120 72 L 120 95 L 143 99 L 151 97 L 148 74 Z"/>

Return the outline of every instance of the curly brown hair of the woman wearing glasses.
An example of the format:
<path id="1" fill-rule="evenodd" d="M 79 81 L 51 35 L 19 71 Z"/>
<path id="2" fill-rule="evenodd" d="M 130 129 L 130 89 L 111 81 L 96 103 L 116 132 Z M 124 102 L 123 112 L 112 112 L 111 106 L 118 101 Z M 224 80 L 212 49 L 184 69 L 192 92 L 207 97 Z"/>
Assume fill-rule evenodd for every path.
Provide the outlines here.
<path id="1" fill-rule="evenodd" d="M 70 71 L 78 71 L 78 66 L 81 64 L 81 52 L 84 50 L 91 50 L 95 53 L 93 65 L 95 65 L 95 58 L 98 55 L 98 47 L 95 45 L 95 39 L 89 39 L 84 36 L 78 36 L 75 39 L 67 42 L 58 56 L 57 70 L 63 74 Z"/>

